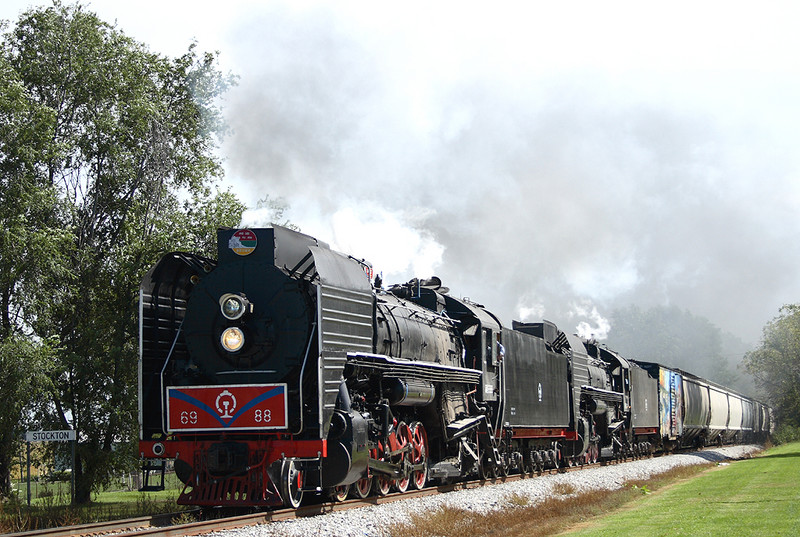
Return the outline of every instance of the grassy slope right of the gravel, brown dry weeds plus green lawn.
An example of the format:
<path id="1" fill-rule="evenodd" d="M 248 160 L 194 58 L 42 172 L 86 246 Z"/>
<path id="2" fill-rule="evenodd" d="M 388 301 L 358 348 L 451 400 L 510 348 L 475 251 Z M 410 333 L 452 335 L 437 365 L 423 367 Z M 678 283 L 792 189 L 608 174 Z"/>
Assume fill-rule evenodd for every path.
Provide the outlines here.
<path id="1" fill-rule="evenodd" d="M 439 509 L 391 528 L 403 537 L 800 535 L 800 443 L 731 464 L 677 468 L 612 492 L 557 488 L 538 505 L 482 515 Z M 514 498 L 512 498 L 513 500 Z M 608 515 L 607 513 L 611 513 Z"/>

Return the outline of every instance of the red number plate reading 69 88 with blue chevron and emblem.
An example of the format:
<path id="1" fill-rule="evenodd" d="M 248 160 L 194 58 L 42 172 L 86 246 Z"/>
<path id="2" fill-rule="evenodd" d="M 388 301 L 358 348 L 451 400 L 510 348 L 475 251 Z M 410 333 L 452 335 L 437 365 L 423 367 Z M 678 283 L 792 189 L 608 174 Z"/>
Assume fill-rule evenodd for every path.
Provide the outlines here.
<path id="1" fill-rule="evenodd" d="M 286 384 L 167 387 L 167 431 L 286 428 Z"/>

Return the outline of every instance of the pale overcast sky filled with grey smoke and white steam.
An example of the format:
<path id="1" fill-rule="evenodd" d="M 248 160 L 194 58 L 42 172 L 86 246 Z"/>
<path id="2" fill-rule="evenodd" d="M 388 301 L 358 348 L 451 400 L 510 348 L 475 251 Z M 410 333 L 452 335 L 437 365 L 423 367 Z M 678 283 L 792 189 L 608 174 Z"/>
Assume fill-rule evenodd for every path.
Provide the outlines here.
<path id="1" fill-rule="evenodd" d="M 600 337 L 614 307 L 677 305 L 757 342 L 800 302 L 795 4 L 89 8 L 167 55 L 218 50 L 226 184 L 386 281 Z"/>

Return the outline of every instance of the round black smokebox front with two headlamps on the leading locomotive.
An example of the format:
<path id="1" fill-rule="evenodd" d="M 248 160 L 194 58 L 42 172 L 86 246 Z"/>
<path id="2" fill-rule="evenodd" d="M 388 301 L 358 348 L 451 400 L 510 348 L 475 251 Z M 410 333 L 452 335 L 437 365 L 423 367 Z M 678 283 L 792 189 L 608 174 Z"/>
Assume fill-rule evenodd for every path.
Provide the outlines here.
<path id="1" fill-rule="evenodd" d="M 296 378 L 312 325 L 302 282 L 271 264 L 242 259 L 200 281 L 184 330 L 199 373 L 242 384 Z"/>

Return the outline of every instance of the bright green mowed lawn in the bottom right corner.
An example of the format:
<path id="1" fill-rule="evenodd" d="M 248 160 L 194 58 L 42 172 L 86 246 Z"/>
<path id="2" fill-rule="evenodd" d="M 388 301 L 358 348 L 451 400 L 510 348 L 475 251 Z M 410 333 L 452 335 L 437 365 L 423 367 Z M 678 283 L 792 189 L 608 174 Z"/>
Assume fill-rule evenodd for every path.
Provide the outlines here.
<path id="1" fill-rule="evenodd" d="M 800 536 L 800 443 L 713 468 L 569 537 Z"/>

